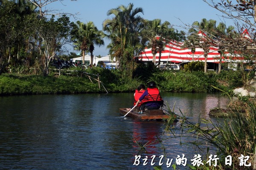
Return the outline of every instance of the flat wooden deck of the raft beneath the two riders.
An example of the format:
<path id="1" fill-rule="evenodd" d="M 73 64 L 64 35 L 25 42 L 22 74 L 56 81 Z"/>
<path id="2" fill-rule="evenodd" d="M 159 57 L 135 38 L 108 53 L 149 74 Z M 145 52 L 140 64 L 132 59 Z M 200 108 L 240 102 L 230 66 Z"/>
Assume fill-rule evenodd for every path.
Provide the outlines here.
<path id="1" fill-rule="evenodd" d="M 126 110 L 126 108 L 120 108 L 120 113 L 122 115 L 125 115 L 126 113 L 128 113 L 128 111 Z M 140 120 L 145 120 L 145 119 L 168 119 L 169 115 L 166 114 L 161 114 L 161 115 L 149 115 L 148 113 L 143 113 L 143 114 L 139 114 L 135 111 L 131 111 L 130 113 L 128 113 L 129 117 L 135 118 L 135 119 L 140 119 Z"/>

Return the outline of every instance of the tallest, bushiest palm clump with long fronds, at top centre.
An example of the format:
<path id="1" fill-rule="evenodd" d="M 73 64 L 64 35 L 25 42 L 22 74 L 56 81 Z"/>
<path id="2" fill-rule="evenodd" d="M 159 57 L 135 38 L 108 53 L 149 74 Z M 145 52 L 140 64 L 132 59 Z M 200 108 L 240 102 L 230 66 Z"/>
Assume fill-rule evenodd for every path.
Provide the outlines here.
<path id="1" fill-rule="evenodd" d="M 143 14 L 142 8 L 133 8 L 134 4 L 129 3 L 128 6 L 119 6 L 108 11 L 107 15 L 113 15 L 111 19 L 106 19 L 103 22 L 103 29 L 107 32 L 106 37 L 111 40 L 109 47 L 119 60 L 119 66 L 124 67 L 128 62 L 127 58 L 133 56 L 125 55 L 125 50 L 130 47 L 133 48 L 139 42 L 140 26 L 143 23 L 143 18 L 138 14 Z"/>

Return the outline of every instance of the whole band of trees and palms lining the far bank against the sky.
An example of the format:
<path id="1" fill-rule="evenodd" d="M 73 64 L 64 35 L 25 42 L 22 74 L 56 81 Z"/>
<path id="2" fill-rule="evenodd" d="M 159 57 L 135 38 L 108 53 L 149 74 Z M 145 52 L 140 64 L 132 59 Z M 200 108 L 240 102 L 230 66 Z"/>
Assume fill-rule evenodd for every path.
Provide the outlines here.
<path id="1" fill-rule="evenodd" d="M 111 41 L 107 46 L 109 54 L 112 58 L 116 57 L 119 69 L 123 71 L 137 67 L 138 57 L 145 47 L 151 48 L 154 63 L 155 55 L 159 54 L 159 65 L 165 43 L 170 40 L 185 42 L 185 47 L 192 51 L 197 47 L 203 48 L 205 62 L 210 45 L 218 47 L 221 53 L 247 49 L 248 56 L 250 54 L 251 59 L 254 57 L 256 28 L 253 0 L 203 0 L 223 12 L 223 17 L 240 22 L 236 22 L 235 26 L 226 26 L 225 23 L 217 25 L 215 20 L 202 19 L 189 25 L 187 33 L 175 30 L 169 21 L 144 19 L 143 8 L 135 8 L 133 3 L 110 9 L 101 31 L 93 21 L 72 23 L 68 15 L 52 15 L 47 5 L 57 1 L 63 2 L 0 0 L 0 73 L 7 65 L 23 65 L 24 60 L 29 61 L 29 66 L 47 71 L 49 62 L 62 54 L 65 45 L 70 43 L 76 50 L 82 51 L 83 56 L 85 52 L 90 52 L 90 63 L 93 64 L 95 45 L 104 45 L 105 37 Z M 241 30 L 245 28 L 250 33 L 250 39 L 241 36 Z M 203 41 L 202 37 L 198 37 L 198 31 L 206 34 Z"/>

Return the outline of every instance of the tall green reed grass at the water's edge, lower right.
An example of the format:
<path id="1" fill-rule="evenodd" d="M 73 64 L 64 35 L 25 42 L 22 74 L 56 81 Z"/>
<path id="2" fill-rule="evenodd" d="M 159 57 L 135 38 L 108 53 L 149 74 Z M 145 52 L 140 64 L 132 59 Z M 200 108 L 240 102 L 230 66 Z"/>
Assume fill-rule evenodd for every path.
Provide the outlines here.
<path id="1" fill-rule="evenodd" d="M 227 94 L 228 95 L 228 94 Z M 230 97 L 232 100 L 232 97 Z M 172 133 L 171 138 L 179 138 L 182 143 L 183 138 L 189 137 L 192 144 L 199 151 L 207 150 L 204 155 L 208 159 L 208 151 L 211 149 L 218 155 L 218 165 L 216 167 L 204 164 L 204 166 L 192 166 L 190 169 L 204 170 L 256 170 L 255 153 L 256 153 L 256 102 L 254 99 L 240 97 L 239 101 L 246 106 L 241 109 L 233 103 L 233 109 L 230 117 L 218 118 L 217 123 L 213 123 L 211 119 L 202 119 L 198 117 L 198 122 L 190 122 L 186 119 L 186 115 L 180 111 L 180 118 L 177 124 L 167 122 L 166 131 Z M 170 110 L 170 108 L 169 108 Z M 170 110 L 171 111 L 171 110 Z M 240 166 L 241 155 L 249 156 L 246 164 L 251 166 Z M 225 164 L 226 156 L 232 157 L 232 165 Z M 203 157 L 203 156 L 202 156 Z"/>

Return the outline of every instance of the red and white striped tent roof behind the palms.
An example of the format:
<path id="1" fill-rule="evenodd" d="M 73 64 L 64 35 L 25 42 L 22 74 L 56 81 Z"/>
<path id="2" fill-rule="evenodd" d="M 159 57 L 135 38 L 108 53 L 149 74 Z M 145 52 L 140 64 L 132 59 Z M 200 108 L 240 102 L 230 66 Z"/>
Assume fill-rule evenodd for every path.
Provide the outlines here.
<path id="1" fill-rule="evenodd" d="M 198 32 L 198 35 L 201 37 L 205 37 L 202 31 Z M 244 30 L 242 36 L 244 38 L 249 38 L 247 30 Z M 164 51 L 162 51 L 161 59 L 162 62 L 191 62 L 191 61 L 204 61 L 204 50 L 202 48 L 195 48 L 195 53 L 191 52 L 190 48 L 183 48 L 183 42 L 170 41 L 166 43 L 166 47 Z M 220 62 L 220 53 L 218 52 L 218 47 L 211 46 L 209 48 L 209 53 L 207 56 L 207 62 Z M 152 61 L 153 54 L 151 53 L 151 48 L 145 48 L 145 50 L 141 53 L 142 61 Z M 239 54 L 229 54 L 225 53 L 225 56 L 222 57 L 222 62 L 230 62 L 233 61 L 242 61 L 244 58 L 239 56 Z M 159 60 L 159 53 L 156 54 L 156 62 Z"/>

